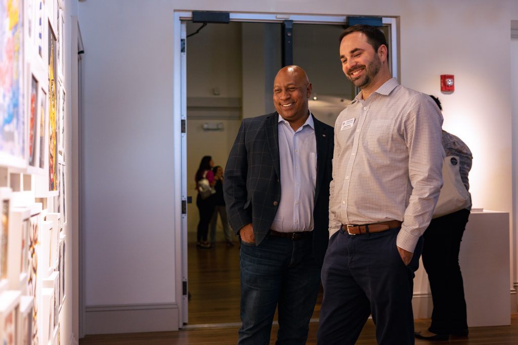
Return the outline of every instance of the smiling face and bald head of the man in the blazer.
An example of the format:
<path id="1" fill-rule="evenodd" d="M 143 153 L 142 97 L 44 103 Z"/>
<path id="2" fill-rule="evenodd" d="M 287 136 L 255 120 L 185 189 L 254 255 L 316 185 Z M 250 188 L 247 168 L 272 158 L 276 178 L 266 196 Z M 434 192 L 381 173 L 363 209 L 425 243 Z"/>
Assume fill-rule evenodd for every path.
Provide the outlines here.
<path id="1" fill-rule="evenodd" d="M 275 109 L 296 130 L 308 118 L 308 98 L 311 83 L 306 72 L 298 66 L 282 68 L 274 81 Z"/>

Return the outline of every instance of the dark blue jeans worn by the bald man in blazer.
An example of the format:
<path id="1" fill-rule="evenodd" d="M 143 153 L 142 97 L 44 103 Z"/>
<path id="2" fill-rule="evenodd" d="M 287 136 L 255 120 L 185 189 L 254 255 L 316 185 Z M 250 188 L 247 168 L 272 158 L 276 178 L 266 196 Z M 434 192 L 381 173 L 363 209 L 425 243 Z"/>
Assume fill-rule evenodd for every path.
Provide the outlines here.
<path id="1" fill-rule="evenodd" d="M 267 345 L 278 307 L 276 344 L 304 345 L 320 287 L 312 236 L 293 241 L 270 235 L 241 242 L 241 321 L 238 344 Z"/>

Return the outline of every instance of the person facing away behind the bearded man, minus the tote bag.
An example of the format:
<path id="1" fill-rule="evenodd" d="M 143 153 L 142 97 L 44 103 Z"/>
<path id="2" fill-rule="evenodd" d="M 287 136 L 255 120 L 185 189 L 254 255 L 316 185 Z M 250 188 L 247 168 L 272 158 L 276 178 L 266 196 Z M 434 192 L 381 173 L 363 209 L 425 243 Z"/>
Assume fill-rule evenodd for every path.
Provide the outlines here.
<path id="1" fill-rule="evenodd" d="M 431 95 L 430 97 L 442 111 L 439 99 Z M 442 130 L 441 143 L 446 156 L 459 158 L 461 179 L 469 192 L 468 174 L 473 160 L 469 147 L 445 130 Z M 461 211 L 432 219 L 423 235 L 423 266 L 428 274 L 434 310 L 431 313 L 430 327 L 425 331 L 415 332 L 416 338 L 448 340 L 450 335 L 468 335 L 464 283 L 458 254 L 470 210 L 471 203 Z"/>

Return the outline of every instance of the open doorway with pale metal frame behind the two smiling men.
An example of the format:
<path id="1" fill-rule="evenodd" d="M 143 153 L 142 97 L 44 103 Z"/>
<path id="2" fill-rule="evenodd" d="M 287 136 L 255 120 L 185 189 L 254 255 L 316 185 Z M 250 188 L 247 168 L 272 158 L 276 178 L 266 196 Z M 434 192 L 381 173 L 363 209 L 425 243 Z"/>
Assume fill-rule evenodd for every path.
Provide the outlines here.
<path id="1" fill-rule="evenodd" d="M 210 155 L 216 165 L 224 168 L 241 119 L 275 110 L 271 83 L 282 67 L 280 24 L 283 20 L 294 21 L 293 63 L 306 70 L 313 84 L 312 113 L 333 126 L 338 113 L 355 95 L 354 87 L 341 72 L 338 58 L 338 37 L 347 17 L 243 13 L 230 16 L 230 23 L 209 23 L 187 38 L 202 24 L 191 22 L 191 12 L 175 13 L 175 21 L 180 22 L 178 26 L 175 24 L 175 34 L 178 27 L 179 41 L 184 40 L 178 50 L 181 64 L 175 63 L 174 73 L 175 80 L 181 76 L 175 81 L 181 85 L 178 98 L 175 92 L 175 103 L 178 99 L 181 107 L 174 116 L 182 123 L 185 205 L 177 249 L 181 247 L 183 324 L 189 327 L 239 322 L 239 248 L 225 246 L 218 220 L 215 248 L 196 249 L 198 211 L 194 202 L 188 200 L 196 198 L 194 174 L 200 159 Z M 383 23 L 392 61 L 397 62 L 395 19 L 384 18 Z M 398 77 L 397 63 L 391 67 L 393 75 Z M 209 286 L 204 282 L 205 277 L 212 279 Z M 222 303 L 214 304 L 215 299 Z"/>

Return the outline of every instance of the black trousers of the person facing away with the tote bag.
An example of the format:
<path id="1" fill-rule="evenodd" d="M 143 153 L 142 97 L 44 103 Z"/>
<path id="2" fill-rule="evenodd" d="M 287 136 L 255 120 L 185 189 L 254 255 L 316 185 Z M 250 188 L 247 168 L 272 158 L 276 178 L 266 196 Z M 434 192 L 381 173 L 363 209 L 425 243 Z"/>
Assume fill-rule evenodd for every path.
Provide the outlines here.
<path id="1" fill-rule="evenodd" d="M 423 236 L 423 266 L 434 302 L 428 329 L 436 334 L 467 335 L 466 301 L 458 253 L 469 214 L 468 209 L 462 209 L 432 219 Z"/>

